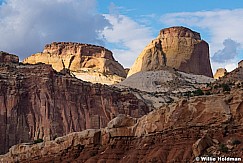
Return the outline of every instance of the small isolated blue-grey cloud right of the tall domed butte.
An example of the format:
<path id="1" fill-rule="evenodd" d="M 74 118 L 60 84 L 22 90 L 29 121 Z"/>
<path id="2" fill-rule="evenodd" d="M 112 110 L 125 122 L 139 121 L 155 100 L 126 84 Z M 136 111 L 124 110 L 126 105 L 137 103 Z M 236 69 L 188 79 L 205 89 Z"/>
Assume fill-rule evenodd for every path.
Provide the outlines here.
<path id="1" fill-rule="evenodd" d="M 223 45 L 224 48 L 217 51 L 212 57 L 214 62 L 227 62 L 237 56 L 237 49 L 240 47 L 239 43 L 231 39 L 226 39 L 224 40 Z"/>

